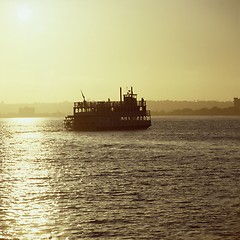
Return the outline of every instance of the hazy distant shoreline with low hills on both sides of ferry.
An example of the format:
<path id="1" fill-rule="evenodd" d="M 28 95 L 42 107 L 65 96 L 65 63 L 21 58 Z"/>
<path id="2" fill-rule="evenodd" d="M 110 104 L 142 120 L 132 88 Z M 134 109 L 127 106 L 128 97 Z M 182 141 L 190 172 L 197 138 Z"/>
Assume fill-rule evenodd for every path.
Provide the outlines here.
<path id="1" fill-rule="evenodd" d="M 147 101 L 152 116 L 239 116 L 234 102 L 217 101 Z M 0 103 L 0 118 L 65 117 L 71 115 L 72 103 Z"/>

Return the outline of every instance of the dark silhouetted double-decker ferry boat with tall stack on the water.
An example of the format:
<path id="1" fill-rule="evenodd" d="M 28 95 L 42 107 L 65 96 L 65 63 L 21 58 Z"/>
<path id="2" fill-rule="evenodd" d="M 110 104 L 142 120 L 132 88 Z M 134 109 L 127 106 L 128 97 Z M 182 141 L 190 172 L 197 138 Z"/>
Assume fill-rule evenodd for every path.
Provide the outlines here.
<path id="1" fill-rule="evenodd" d="M 120 101 L 86 101 L 74 102 L 73 115 L 65 117 L 64 125 L 68 130 L 106 131 L 147 129 L 151 126 L 150 111 L 146 109 L 146 101 L 137 100 L 133 88 L 122 95 Z M 123 97 L 123 99 L 122 99 Z"/>

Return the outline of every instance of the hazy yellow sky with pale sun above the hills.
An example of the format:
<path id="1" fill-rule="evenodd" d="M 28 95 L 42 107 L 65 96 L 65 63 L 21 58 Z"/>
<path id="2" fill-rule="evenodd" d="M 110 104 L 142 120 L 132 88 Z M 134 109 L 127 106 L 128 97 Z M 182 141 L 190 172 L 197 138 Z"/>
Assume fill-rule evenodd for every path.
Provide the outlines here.
<path id="1" fill-rule="evenodd" d="M 240 97 L 240 0 L 0 0 L 0 101 Z"/>

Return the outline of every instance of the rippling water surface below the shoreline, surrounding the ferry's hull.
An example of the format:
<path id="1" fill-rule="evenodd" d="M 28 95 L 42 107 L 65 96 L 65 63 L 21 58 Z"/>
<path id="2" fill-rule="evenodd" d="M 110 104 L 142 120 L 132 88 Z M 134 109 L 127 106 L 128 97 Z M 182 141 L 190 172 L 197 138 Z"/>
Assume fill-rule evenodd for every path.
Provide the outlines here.
<path id="1" fill-rule="evenodd" d="M 0 119 L 0 136 L 0 239 L 240 239 L 239 117 Z"/>

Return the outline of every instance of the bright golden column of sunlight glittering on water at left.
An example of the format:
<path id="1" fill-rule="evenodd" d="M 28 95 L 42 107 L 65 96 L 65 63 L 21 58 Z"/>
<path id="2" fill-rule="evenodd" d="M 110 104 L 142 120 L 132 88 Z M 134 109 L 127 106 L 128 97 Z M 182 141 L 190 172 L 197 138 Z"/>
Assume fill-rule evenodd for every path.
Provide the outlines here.
<path id="1" fill-rule="evenodd" d="M 51 213 L 56 212 L 54 199 L 44 196 L 52 192 L 48 180 L 51 178 L 43 161 L 43 134 L 38 131 L 41 119 L 9 119 L 12 133 L 5 142 L 8 155 L 2 162 L 5 181 L 3 188 L 6 224 L 4 235 L 24 236 L 24 239 L 49 238 L 46 225 L 54 226 Z M 31 131 L 34 129 L 34 131 Z M 48 149 L 48 152 L 50 149 Z"/>

